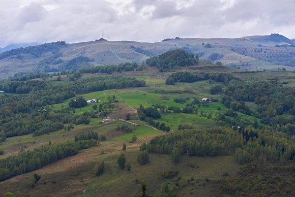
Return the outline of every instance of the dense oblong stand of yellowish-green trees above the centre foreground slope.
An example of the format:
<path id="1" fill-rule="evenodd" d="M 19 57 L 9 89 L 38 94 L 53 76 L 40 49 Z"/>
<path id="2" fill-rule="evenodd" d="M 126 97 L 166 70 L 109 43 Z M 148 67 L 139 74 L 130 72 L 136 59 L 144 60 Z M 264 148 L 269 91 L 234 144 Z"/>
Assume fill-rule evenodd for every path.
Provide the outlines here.
<path id="1" fill-rule="evenodd" d="M 246 143 L 242 135 L 225 127 L 175 131 L 156 136 L 149 141 L 149 153 L 172 154 L 178 149 L 179 155 L 217 156 L 235 153 L 235 149 Z"/>

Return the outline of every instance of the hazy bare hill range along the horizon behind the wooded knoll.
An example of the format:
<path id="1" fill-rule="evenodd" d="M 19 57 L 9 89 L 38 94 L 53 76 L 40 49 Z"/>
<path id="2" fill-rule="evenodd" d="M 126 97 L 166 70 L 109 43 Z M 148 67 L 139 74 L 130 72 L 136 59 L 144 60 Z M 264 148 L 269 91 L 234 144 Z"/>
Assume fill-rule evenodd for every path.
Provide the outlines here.
<path id="1" fill-rule="evenodd" d="M 46 43 L 0 53 L 0 79 L 31 72 L 58 71 L 63 67 L 142 63 L 168 50 L 184 49 L 201 60 L 220 61 L 246 70 L 294 70 L 295 47 L 283 35 L 257 35 L 241 38 L 176 38 L 156 43 L 135 41 L 89 41 L 68 44 Z M 62 44 L 60 44 L 62 43 Z M 213 54 L 213 55 L 212 55 Z M 215 58 L 212 58 L 215 57 Z M 216 58 L 217 57 L 217 58 Z M 71 62 L 70 62 L 71 61 Z M 66 65 L 66 66 L 65 66 Z"/>

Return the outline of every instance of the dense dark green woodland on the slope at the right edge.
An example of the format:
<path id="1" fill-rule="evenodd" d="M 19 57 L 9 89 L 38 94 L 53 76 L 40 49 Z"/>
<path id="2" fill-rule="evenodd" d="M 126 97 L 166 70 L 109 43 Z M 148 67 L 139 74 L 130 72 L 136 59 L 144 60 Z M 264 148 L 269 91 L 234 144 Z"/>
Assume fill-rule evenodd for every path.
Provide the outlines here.
<path id="1" fill-rule="evenodd" d="M 261 123 L 274 131 L 294 133 L 295 89 L 283 87 L 276 81 L 239 82 L 231 81 L 224 89 L 222 103 L 235 111 L 261 118 Z M 254 101 L 257 110 L 251 110 L 245 101 Z M 284 114 L 288 113 L 288 118 Z M 289 124 L 287 126 L 287 124 Z"/>

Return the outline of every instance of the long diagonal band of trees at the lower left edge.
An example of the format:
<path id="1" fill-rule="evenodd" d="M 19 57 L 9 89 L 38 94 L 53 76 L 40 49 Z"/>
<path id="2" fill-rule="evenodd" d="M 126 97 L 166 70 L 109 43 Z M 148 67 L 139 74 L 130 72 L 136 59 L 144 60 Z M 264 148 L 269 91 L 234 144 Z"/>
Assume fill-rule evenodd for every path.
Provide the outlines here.
<path id="1" fill-rule="evenodd" d="M 0 181 L 39 169 L 44 165 L 76 155 L 81 149 L 96 145 L 96 140 L 90 139 L 43 146 L 32 151 L 22 149 L 17 155 L 0 159 Z"/>

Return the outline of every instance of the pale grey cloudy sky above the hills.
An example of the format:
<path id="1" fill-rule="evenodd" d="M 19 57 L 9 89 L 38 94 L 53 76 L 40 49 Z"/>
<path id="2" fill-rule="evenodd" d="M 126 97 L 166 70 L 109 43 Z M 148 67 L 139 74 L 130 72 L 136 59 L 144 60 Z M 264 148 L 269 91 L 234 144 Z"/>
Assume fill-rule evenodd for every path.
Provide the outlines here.
<path id="1" fill-rule="evenodd" d="M 295 38 L 295 0 L 0 0 L 0 47 L 168 37 Z"/>

